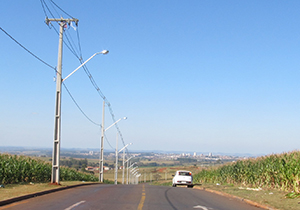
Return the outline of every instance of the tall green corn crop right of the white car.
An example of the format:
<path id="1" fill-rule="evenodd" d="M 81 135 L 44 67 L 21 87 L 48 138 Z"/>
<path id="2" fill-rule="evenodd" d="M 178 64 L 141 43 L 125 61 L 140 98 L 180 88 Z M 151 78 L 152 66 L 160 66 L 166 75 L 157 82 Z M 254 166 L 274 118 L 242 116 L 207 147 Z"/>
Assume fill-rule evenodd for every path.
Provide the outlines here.
<path id="1" fill-rule="evenodd" d="M 300 152 L 273 154 L 204 169 L 194 180 L 196 183 L 232 183 L 299 193 Z"/>

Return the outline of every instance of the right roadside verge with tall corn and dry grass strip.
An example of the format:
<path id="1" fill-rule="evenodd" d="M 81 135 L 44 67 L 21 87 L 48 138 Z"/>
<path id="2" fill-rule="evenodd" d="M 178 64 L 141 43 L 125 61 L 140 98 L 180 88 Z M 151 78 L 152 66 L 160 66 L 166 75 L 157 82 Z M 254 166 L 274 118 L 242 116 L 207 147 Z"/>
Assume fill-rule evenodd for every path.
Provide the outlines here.
<path id="1" fill-rule="evenodd" d="M 194 182 L 278 209 L 300 209 L 300 152 L 206 168 Z"/>

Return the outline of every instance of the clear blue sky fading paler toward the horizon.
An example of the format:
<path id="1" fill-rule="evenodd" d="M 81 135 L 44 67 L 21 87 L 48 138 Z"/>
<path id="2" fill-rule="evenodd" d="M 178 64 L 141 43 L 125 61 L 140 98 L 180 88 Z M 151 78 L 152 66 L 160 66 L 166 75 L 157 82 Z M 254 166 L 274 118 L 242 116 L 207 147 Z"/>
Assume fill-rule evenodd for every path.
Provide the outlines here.
<path id="1" fill-rule="evenodd" d="M 109 50 L 86 66 L 111 105 L 104 127 L 127 117 L 118 148 L 272 154 L 300 148 L 299 8 L 297 0 L 2 0 L 0 27 L 56 67 L 59 27 L 45 24 L 45 12 L 77 18 L 64 31 L 63 78 L 80 52 L 86 60 Z M 52 148 L 55 71 L 3 31 L 0 46 L 0 146 Z M 84 69 L 64 84 L 101 124 L 103 99 Z M 63 87 L 62 148 L 100 147 L 89 119 Z M 106 131 L 105 149 L 116 147 L 116 133 Z"/>

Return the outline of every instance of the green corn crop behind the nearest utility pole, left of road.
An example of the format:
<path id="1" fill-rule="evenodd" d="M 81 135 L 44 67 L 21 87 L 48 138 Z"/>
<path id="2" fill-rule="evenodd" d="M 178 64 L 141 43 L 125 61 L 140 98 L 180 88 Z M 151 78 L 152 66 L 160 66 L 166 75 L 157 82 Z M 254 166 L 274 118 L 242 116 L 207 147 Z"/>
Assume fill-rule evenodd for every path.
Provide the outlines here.
<path id="1" fill-rule="evenodd" d="M 0 183 L 50 182 L 52 166 L 44 161 L 17 155 L 0 154 Z M 61 167 L 61 181 L 97 181 L 91 175 Z"/>

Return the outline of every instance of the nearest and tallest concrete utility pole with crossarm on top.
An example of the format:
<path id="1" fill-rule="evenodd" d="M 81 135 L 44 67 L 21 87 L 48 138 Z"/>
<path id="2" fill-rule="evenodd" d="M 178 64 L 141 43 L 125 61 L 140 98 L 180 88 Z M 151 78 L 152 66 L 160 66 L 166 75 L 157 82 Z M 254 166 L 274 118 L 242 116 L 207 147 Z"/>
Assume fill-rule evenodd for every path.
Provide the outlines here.
<path id="1" fill-rule="evenodd" d="M 71 22 L 78 25 L 78 19 L 48 19 L 46 24 L 51 21 L 59 22 L 59 44 L 58 44 L 58 59 L 56 73 L 56 103 L 55 103 L 55 121 L 54 121 L 54 145 L 52 153 L 52 174 L 51 183 L 59 184 L 59 162 L 60 162 L 60 138 L 61 138 L 61 84 L 62 84 L 62 49 L 63 49 L 63 32 L 64 27 Z"/>

